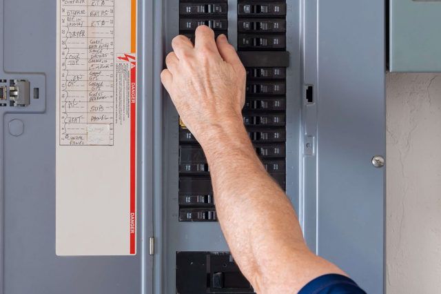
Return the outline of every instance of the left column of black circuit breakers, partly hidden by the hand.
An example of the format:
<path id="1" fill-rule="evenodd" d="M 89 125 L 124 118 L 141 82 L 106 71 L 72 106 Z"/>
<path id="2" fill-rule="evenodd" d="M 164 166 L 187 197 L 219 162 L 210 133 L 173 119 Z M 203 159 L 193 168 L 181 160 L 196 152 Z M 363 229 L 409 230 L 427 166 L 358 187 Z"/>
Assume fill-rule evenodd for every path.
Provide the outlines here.
<path id="1" fill-rule="evenodd" d="M 194 42 L 198 26 L 208 26 L 217 37 L 228 32 L 227 0 L 181 0 L 179 3 L 179 33 Z M 201 146 L 179 120 L 179 191 L 180 222 L 216 222 L 216 210 L 209 166 Z"/>

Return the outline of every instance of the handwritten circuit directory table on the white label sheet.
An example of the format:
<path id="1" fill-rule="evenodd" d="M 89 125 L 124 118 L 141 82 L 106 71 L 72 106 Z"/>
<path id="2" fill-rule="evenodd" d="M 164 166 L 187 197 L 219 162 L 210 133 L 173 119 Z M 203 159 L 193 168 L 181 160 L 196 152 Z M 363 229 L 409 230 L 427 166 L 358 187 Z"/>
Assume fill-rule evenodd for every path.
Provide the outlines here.
<path id="1" fill-rule="evenodd" d="M 114 26 L 114 0 L 62 1 L 61 145 L 113 144 Z M 108 138 L 96 140 L 90 124 L 109 128 Z"/>

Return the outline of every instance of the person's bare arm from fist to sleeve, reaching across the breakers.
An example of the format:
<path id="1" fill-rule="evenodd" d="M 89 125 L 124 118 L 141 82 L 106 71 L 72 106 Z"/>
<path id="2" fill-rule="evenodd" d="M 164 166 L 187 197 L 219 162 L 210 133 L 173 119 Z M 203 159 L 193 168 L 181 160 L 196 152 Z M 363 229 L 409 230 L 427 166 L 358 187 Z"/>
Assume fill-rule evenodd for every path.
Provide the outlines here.
<path id="1" fill-rule="evenodd" d="M 318 275 L 342 273 L 305 245 L 296 213 L 267 175 L 241 110 L 246 71 L 225 35 L 199 26 L 195 43 L 173 39 L 161 80 L 208 159 L 218 219 L 234 258 L 260 293 L 296 293 Z"/>

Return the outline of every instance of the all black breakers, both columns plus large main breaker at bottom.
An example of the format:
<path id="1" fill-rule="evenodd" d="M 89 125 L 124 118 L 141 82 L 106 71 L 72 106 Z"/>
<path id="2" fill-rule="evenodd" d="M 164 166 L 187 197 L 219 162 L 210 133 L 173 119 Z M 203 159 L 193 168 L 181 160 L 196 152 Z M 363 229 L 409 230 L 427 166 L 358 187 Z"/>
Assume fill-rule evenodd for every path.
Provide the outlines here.
<path id="1" fill-rule="evenodd" d="M 268 173 L 285 189 L 285 1 L 238 0 L 237 48 L 247 69 L 243 122 Z M 216 37 L 228 32 L 227 0 L 181 0 L 180 34 L 194 40 L 197 26 Z M 230 23 L 230 26 L 232 23 Z M 233 41 L 230 39 L 230 41 Z M 216 222 L 209 166 L 192 133 L 179 124 L 179 221 Z M 227 252 L 177 252 L 176 293 L 253 293 Z"/>

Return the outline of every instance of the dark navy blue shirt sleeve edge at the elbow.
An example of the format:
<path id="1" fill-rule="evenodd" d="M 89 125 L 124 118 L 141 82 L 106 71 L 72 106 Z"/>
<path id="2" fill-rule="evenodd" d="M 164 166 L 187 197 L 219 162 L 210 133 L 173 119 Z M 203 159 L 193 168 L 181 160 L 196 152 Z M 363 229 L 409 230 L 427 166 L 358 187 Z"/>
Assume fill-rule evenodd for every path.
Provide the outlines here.
<path id="1" fill-rule="evenodd" d="M 316 277 L 298 294 L 366 294 L 366 292 L 349 277 L 333 273 Z"/>

